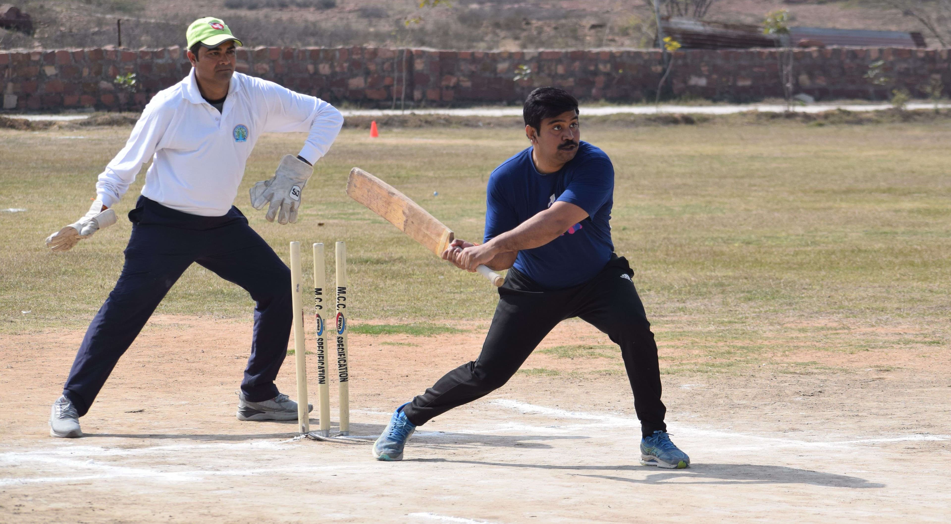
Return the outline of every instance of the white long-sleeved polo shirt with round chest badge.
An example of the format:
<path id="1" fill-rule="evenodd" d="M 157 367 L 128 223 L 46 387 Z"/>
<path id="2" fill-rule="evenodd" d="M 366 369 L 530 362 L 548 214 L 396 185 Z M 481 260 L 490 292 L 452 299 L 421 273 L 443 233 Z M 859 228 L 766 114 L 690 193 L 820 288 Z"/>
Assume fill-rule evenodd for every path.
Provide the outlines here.
<path id="1" fill-rule="evenodd" d="M 262 133 L 310 133 L 300 155 L 313 164 L 342 124 L 333 105 L 238 72 L 219 113 L 202 98 L 193 68 L 146 105 L 126 147 L 99 175 L 96 194 L 112 207 L 151 159 L 144 196 L 191 215 L 221 216 L 238 195 L 244 164 Z"/>

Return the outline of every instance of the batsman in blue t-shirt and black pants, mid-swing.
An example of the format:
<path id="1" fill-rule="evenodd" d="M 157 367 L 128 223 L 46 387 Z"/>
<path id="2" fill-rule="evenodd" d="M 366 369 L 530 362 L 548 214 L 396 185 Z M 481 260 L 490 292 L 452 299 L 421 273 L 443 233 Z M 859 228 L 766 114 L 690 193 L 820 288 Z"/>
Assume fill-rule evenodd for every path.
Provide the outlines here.
<path id="1" fill-rule="evenodd" d="M 686 468 L 690 459 L 664 423 L 657 345 L 633 271 L 611 243 L 611 159 L 580 140 L 578 102 L 562 89 L 535 89 L 523 116 L 532 145 L 489 178 L 485 243 L 456 239 L 442 253 L 464 270 L 509 270 L 482 352 L 399 406 L 374 456 L 401 459 L 417 425 L 501 387 L 559 322 L 580 317 L 621 346 L 641 421 L 641 463 Z"/>

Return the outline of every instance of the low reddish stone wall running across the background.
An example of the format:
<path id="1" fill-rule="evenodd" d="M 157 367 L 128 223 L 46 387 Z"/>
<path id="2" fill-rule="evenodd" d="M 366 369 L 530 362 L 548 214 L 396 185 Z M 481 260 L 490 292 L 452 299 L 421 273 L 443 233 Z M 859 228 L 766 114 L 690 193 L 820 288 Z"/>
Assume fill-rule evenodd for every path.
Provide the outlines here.
<path id="1" fill-rule="evenodd" d="M 405 52 L 405 61 L 403 60 Z M 776 51 L 689 50 L 675 53 L 670 84 L 676 95 L 747 102 L 781 97 Z M 191 67 L 184 49 L 59 49 L 0 51 L 3 108 L 139 109 Z M 538 85 L 559 85 L 582 101 L 652 100 L 662 73 L 659 51 L 437 51 L 374 47 L 257 47 L 238 51 L 238 70 L 333 102 L 362 107 L 520 103 Z M 839 48 L 795 51 L 796 92 L 820 100 L 874 98 L 888 88 L 869 84 L 868 65 L 883 60 L 897 86 L 923 96 L 933 76 L 951 87 L 947 49 Z M 519 65 L 532 70 L 515 81 Z M 137 74 L 139 89 L 113 84 Z"/>

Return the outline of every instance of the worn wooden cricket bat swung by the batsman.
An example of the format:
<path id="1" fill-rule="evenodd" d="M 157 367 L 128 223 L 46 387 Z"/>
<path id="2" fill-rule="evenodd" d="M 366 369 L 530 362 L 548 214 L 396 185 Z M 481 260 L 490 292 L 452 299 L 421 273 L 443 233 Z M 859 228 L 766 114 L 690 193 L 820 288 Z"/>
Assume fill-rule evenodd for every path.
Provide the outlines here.
<path id="1" fill-rule="evenodd" d="M 410 235 L 440 258 L 456 238 L 452 230 L 419 207 L 409 196 L 359 167 L 350 170 L 347 195 L 397 226 L 399 231 Z M 505 282 L 504 276 L 485 266 L 478 266 L 476 271 L 488 278 L 496 288 Z"/>

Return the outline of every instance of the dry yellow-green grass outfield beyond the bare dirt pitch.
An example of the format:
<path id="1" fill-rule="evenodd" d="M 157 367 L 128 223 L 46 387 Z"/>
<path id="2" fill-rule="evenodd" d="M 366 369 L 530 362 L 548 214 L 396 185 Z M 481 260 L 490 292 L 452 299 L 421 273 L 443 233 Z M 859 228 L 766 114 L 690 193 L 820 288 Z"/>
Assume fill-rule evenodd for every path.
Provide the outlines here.
<path id="1" fill-rule="evenodd" d="M 951 347 L 948 120 L 808 127 L 751 118 L 755 125 L 743 117 L 650 127 L 582 118 L 583 139 L 614 164 L 612 240 L 631 261 L 667 357 L 665 372 L 735 373 L 764 364 L 812 372 L 814 366 L 770 359 L 805 360 L 793 357 L 815 349 L 899 348 L 943 358 Z M 359 165 L 414 198 L 456 237 L 480 240 L 488 174 L 526 145 L 515 120 L 511 129 L 391 126 L 373 140 L 362 129 L 344 129 L 315 167 L 293 226 L 264 220 L 248 206 L 247 191 L 271 178 L 281 155 L 300 148 L 304 136 L 264 134 L 235 205 L 285 261 L 288 242 L 323 242 L 331 285 L 333 243 L 347 242 L 354 332 L 456 333 L 454 320 L 492 318 L 496 290 L 426 252 L 342 189 Z M 67 253 L 49 253 L 43 240 L 87 211 L 96 174 L 129 131 L 0 129 L 0 336 L 82 329 L 106 299 L 122 270 L 125 216 L 144 172 L 117 204 L 117 224 Z M 3 211 L 9 208 L 28 211 Z M 312 264 L 308 251 L 307 286 Z M 253 309 L 244 290 L 193 265 L 157 312 L 250 322 Z M 567 359 L 617 356 L 617 349 L 584 345 L 541 351 Z"/>

